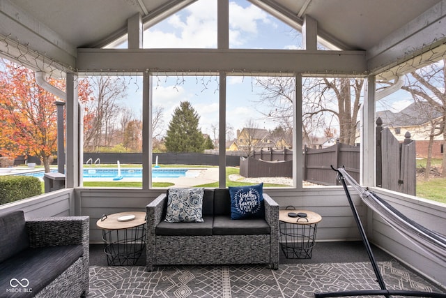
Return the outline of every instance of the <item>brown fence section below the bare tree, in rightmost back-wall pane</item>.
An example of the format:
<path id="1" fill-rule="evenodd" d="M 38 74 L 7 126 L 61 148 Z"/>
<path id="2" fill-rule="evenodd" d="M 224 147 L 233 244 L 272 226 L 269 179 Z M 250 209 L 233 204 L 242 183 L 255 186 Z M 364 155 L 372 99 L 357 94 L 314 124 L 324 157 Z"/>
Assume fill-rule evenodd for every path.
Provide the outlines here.
<path id="1" fill-rule="evenodd" d="M 360 178 L 360 147 L 337 142 L 324 149 L 304 149 L 304 180 L 322 185 L 340 185 L 331 168 L 345 167 L 356 181 Z"/>

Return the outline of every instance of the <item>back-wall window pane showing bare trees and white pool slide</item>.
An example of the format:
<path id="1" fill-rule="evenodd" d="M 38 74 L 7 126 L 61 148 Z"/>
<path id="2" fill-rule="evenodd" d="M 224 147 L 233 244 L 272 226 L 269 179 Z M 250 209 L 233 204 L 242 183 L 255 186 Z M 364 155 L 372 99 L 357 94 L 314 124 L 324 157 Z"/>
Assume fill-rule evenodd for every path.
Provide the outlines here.
<path id="1" fill-rule="evenodd" d="M 142 80 L 92 75 L 84 103 L 84 186 L 142 187 Z"/>

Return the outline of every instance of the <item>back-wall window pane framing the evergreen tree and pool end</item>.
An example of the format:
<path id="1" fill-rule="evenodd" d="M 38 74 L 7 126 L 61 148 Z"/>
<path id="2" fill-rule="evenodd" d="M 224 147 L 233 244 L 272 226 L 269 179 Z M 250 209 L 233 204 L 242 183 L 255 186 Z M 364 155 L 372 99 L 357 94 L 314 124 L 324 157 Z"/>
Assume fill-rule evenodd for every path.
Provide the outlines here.
<path id="1" fill-rule="evenodd" d="M 218 76 L 155 73 L 152 82 L 152 187 L 218 187 Z"/>

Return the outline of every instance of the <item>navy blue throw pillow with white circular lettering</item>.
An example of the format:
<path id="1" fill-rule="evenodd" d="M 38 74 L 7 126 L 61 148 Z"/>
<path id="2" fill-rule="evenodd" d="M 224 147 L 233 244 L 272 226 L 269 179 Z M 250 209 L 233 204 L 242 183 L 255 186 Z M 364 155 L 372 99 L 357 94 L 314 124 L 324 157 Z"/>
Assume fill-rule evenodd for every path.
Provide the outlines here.
<path id="1" fill-rule="evenodd" d="M 231 218 L 263 217 L 263 183 L 251 186 L 229 186 Z"/>

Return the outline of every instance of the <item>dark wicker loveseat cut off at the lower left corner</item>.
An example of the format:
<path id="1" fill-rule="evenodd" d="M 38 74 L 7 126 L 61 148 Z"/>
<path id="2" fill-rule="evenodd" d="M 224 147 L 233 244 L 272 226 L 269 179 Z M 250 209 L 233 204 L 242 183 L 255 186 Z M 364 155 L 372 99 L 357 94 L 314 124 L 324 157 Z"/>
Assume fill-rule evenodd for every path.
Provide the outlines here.
<path id="1" fill-rule="evenodd" d="M 81 297 L 89 292 L 89 217 L 0 215 L 0 297 Z"/>

